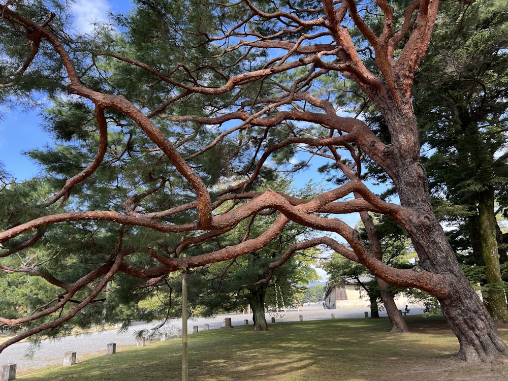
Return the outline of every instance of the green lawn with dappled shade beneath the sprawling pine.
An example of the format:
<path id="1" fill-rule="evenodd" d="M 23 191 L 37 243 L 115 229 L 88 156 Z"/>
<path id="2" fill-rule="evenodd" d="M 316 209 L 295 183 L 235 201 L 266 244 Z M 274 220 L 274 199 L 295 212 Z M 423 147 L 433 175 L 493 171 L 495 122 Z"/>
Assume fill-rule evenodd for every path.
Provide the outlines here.
<path id="1" fill-rule="evenodd" d="M 189 335 L 189 379 L 198 381 L 370 381 L 508 379 L 508 364 L 466 365 L 440 317 L 408 316 L 409 334 L 389 333 L 388 319 L 341 319 L 202 331 Z M 499 328 L 508 339 L 508 327 Z M 181 340 L 126 348 L 80 360 L 23 381 L 162 381 L 181 379 Z M 31 371 L 33 372 L 33 371 Z"/>

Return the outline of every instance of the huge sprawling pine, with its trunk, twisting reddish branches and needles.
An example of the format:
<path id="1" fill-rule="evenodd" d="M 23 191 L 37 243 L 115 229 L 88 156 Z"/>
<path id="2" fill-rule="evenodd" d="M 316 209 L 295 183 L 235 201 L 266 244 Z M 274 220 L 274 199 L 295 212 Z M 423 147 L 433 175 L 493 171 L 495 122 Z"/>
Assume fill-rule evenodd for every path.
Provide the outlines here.
<path id="1" fill-rule="evenodd" d="M 30 96 L 37 88 L 52 99 L 77 100 L 89 107 L 93 116 L 79 132 L 89 133 L 84 140 L 94 141 L 97 153 L 87 158 L 78 152 L 74 165 L 66 167 L 68 174 L 59 179 L 61 189 L 38 204 L 40 217 L 23 219 L 19 225 L 7 223 L 0 233 L 0 255 L 38 247 L 46 239 L 49 244 L 61 226 L 95 231 L 89 227 L 95 225 L 110 236 L 101 250 L 90 249 L 93 260 L 87 257 L 79 270 L 60 266 L 63 272 L 34 272 L 34 266 L 41 267 L 39 259 L 17 269 L 41 276 L 63 292 L 37 314 L 0 318 L 9 325 L 38 324 L 1 344 L 0 350 L 72 319 L 99 297 L 117 272 L 153 284 L 171 272 L 255 252 L 292 220 L 333 232 L 348 245 L 324 235 L 298 249 L 326 244 L 386 282 L 417 287 L 438 298 L 459 339 L 461 359 L 508 356 L 433 212 L 420 163 L 411 87 L 430 41 L 438 2 L 415 0 L 405 9 L 394 9 L 383 0 L 375 6 L 351 0 L 310 6 L 299 1 L 141 2 L 130 15 L 117 18 L 120 27 L 114 33 L 102 28 L 86 39 L 65 30 L 65 10 L 52 13 L 39 2 L 1 6 L 0 28 L 6 36 L 1 47 L 8 58 L 2 67 L 5 93 L 15 97 L 16 91 L 24 91 Z M 372 22 L 371 9 L 382 15 L 382 29 L 377 27 L 379 18 Z M 372 61 L 375 70 L 369 70 Z M 44 86 L 34 84 L 40 75 Z M 363 120 L 337 113 L 343 97 L 334 94 L 341 89 L 330 86 L 337 78 L 358 84 L 382 114 L 389 142 Z M 122 136 L 118 154 L 125 168 L 108 178 L 99 175 L 111 167 L 105 156 L 110 132 Z M 145 137 L 146 144 L 132 150 L 131 134 L 139 140 Z M 76 145 L 83 144 L 80 134 L 74 139 Z M 73 145 L 65 143 L 70 153 Z M 270 162 L 274 153 L 278 160 Z M 283 158 L 304 153 L 332 161 L 337 176 L 347 172 L 346 182 L 311 200 L 271 189 L 252 192 L 256 181 L 269 176 Z M 362 181 L 364 156 L 391 178 L 400 203 L 386 202 L 368 189 Z M 207 168 L 213 157 L 221 158 L 223 169 L 215 176 Z M 145 168 L 161 164 L 164 169 L 138 169 L 138 177 L 128 172 L 127 163 L 141 168 L 145 161 Z M 220 184 L 221 175 L 236 181 Z M 124 180 L 130 186 L 123 187 Z M 104 187 L 101 181 L 108 184 L 109 202 L 80 202 L 87 186 Z M 91 193 L 90 197 L 93 201 Z M 217 208 L 230 200 L 249 201 L 219 213 Z M 213 251 L 200 249 L 267 209 L 278 214 L 261 235 Z M 375 212 L 395 220 L 411 239 L 422 271 L 395 269 L 370 255 L 355 229 L 340 219 L 352 212 Z M 86 243 L 99 240 L 88 237 Z M 54 262 L 60 260 L 68 261 L 58 255 Z M 52 314 L 51 322 L 39 323 Z"/>

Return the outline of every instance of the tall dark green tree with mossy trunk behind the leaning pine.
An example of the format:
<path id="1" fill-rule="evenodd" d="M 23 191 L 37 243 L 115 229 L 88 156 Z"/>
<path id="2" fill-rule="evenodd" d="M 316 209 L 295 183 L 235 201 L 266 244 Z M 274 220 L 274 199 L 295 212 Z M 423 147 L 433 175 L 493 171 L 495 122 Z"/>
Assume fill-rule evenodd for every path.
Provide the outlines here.
<path id="1" fill-rule="evenodd" d="M 485 266 L 484 302 L 504 323 L 496 214 L 506 207 L 508 175 L 507 9 L 505 1 L 444 4 L 414 92 L 430 185 L 448 204 L 440 213 L 454 205 L 459 223 L 469 227 L 472 257 Z"/>

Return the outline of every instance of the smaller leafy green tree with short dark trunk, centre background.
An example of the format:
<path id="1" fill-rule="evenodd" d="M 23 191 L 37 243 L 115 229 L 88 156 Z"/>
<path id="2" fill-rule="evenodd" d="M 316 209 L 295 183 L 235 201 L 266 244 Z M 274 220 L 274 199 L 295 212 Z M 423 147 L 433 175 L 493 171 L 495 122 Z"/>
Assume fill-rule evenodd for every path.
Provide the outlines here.
<path id="1" fill-rule="evenodd" d="M 291 181 L 284 178 L 269 182 L 265 187 L 279 192 L 295 194 L 309 198 L 315 193 L 315 184 L 307 184 L 304 188 L 291 187 Z M 235 245 L 245 240 L 245 232 L 250 237 L 261 235 L 274 221 L 273 215 L 256 216 L 248 223 L 239 224 L 227 233 L 223 245 Z M 266 331 L 266 310 L 278 312 L 283 306 L 296 305 L 299 300 L 300 288 L 319 278 L 315 265 L 319 253 L 315 248 L 296 251 L 299 243 L 304 245 L 306 239 L 312 237 L 312 231 L 297 224 L 288 224 L 276 240 L 261 249 L 248 253 L 228 264 L 214 264 L 208 268 L 212 281 L 208 281 L 207 295 L 198 300 L 212 314 L 228 306 L 228 310 L 245 309 L 248 304 L 252 310 L 255 331 Z M 291 253 L 291 256 L 288 255 Z M 270 264 L 282 260 L 283 266 L 270 268 Z M 213 276 L 213 274 L 218 274 Z"/>

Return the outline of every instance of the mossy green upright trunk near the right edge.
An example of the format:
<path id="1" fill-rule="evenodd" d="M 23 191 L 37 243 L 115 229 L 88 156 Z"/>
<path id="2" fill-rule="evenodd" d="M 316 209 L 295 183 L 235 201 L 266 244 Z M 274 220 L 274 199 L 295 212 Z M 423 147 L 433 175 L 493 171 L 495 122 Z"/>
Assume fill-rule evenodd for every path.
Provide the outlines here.
<path id="1" fill-rule="evenodd" d="M 496 216 L 494 214 L 494 193 L 486 191 L 478 203 L 478 236 L 482 247 L 487 283 L 483 300 L 495 322 L 508 323 L 508 306 L 504 294 L 496 239 Z"/>

